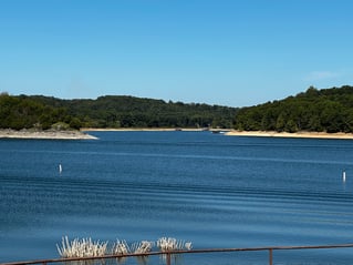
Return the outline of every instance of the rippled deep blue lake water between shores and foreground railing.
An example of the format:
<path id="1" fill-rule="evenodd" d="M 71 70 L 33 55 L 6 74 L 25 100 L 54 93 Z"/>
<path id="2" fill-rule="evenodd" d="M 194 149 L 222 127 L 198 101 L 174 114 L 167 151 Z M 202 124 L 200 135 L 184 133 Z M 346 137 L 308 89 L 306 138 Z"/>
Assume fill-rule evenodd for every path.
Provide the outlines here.
<path id="1" fill-rule="evenodd" d="M 59 257 L 65 235 L 170 236 L 194 248 L 353 243 L 353 141 L 92 134 L 100 140 L 0 140 L 0 263 Z M 267 264 L 268 253 L 177 264 L 215 262 Z M 277 251 L 273 263 L 351 265 L 353 248 Z"/>

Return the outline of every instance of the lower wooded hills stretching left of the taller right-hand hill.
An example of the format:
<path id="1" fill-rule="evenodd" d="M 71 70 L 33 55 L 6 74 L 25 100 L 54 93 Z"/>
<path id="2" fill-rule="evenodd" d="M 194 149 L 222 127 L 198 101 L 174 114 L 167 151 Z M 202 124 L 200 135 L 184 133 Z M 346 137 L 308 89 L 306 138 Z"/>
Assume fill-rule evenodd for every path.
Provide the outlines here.
<path id="1" fill-rule="evenodd" d="M 237 110 L 122 95 L 61 100 L 2 93 L 0 128 L 232 128 Z"/>

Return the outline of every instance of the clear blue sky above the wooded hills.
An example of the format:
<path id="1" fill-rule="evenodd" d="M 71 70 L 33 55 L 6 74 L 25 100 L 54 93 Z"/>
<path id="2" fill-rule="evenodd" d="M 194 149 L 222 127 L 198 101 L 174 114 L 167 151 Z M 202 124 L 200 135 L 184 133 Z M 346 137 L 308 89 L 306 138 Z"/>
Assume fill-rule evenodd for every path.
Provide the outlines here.
<path id="1" fill-rule="evenodd" d="M 246 106 L 353 85 L 351 0 L 0 0 L 0 91 Z"/>

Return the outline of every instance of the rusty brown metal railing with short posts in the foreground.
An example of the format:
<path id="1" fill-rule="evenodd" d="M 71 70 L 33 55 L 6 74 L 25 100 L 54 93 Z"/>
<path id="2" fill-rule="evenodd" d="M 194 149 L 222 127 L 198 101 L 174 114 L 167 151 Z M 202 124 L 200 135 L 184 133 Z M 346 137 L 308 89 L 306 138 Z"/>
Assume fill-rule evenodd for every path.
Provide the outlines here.
<path id="1" fill-rule="evenodd" d="M 149 252 L 144 254 L 124 254 L 124 255 L 105 255 L 97 257 L 70 257 L 70 258 L 51 258 L 51 259 L 35 259 L 24 262 L 10 262 L 0 263 L 0 265 L 30 265 L 30 264 L 43 264 L 48 263 L 64 263 L 64 262 L 82 262 L 82 261 L 96 261 L 96 259 L 110 259 L 110 258 L 123 258 L 123 257 L 142 257 L 142 256 L 156 256 L 165 255 L 166 264 L 170 265 L 170 256 L 176 254 L 204 254 L 204 253 L 225 253 L 225 252 L 269 252 L 269 265 L 272 265 L 273 251 L 293 251 L 293 249 L 324 249 L 324 248 L 343 248 L 353 247 L 353 244 L 336 244 L 336 245 L 305 245 L 305 246 L 262 246 L 262 247 L 242 247 L 242 248 L 200 248 L 190 251 L 170 251 L 170 252 Z"/>

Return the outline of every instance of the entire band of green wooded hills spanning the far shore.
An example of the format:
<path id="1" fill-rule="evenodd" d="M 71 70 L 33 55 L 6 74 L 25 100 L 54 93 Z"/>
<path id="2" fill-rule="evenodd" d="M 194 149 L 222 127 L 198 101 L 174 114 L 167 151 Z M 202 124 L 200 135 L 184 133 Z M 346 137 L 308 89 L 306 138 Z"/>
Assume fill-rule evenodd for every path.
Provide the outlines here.
<path id="1" fill-rule="evenodd" d="M 240 109 L 126 95 L 62 100 L 2 93 L 0 128 L 219 128 L 353 133 L 353 86 L 310 86 L 295 96 Z"/>

